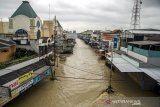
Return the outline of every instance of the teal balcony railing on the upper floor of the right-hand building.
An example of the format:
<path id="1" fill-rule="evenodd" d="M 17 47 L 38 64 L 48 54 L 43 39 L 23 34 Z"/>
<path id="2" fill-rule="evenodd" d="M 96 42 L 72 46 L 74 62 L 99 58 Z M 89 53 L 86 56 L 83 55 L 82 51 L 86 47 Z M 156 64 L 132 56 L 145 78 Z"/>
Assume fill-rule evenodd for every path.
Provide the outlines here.
<path id="1" fill-rule="evenodd" d="M 132 47 L 130 45 L 128 45 L 128 50 L 146 57 L 160 57 L 160 51 L 145 50 L 137 47 Z"/>

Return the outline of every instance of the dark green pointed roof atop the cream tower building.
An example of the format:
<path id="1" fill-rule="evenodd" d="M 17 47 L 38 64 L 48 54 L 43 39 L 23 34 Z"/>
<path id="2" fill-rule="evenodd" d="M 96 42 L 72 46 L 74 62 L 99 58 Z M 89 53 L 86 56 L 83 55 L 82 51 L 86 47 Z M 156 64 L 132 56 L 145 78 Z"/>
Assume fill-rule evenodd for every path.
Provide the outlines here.
<path id="1" fill-rule="evenodd" d="M 28 16 L 29 18 L 37 17 L 37 14 L 33 10 L 33 8 L 30 6 L 28 1 L 23 1 L 22 4 L 18 7 L 18 9 L 11 16 L 11 18 L 18 16 L 18 15 L 25 15 L 25 16 Z"/>

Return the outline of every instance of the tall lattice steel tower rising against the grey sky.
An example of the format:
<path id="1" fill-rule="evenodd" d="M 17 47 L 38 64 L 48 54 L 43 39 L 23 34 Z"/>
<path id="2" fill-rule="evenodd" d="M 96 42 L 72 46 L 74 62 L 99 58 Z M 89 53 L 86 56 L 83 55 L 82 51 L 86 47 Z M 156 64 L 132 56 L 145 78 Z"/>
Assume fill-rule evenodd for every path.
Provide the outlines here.
<path id="1" fill-rule="evenodd" d="M 140 11 L 141 11 L 142 0 L 134 0 L 134 6 L 131 17 L 131 29 L 140 28 Z"/>

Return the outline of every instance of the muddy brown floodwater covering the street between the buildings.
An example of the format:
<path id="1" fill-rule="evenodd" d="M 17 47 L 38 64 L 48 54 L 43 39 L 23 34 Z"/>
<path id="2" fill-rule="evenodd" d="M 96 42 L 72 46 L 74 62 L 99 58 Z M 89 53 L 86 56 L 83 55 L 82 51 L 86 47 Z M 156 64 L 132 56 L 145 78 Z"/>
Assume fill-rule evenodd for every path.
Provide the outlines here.
<path id="1" fill-rule="evenodd" d="M 56 68 L 58 80 L 46 79 L 32 87 L 6 107 L 105 107 L 110 96 L 151 97 L 156 94 L 142 91 L 131 79 L 122 81 L 123 76 L 113 73 L 115 93 L 108 95 L 109 69 L 105 61 L 77 39 L 74 53 Z"/>

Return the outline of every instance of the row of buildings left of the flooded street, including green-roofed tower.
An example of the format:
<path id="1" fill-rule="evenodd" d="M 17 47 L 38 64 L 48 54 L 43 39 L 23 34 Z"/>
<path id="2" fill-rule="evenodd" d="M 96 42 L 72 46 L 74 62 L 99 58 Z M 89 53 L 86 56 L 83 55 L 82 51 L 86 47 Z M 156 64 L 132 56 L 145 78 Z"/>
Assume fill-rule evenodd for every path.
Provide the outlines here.
<path id="1" fill-rule="evenodd" d="M 51 60 L 53 53 L 58 53 L 53 52 L 53 48 L 62 47 L 61 51 L 72 52 L 75 37 L 76 33 L 64 32 L 56 17 L 41 20 L 28 1 L 22 2 L 9 17 L 9 22 L 1 21 L 0 106 L 44 78 L 53 77 L 54 63 Z"/>

